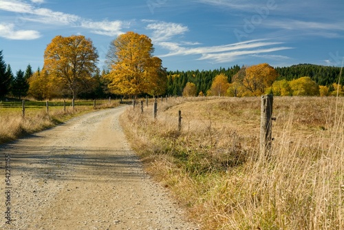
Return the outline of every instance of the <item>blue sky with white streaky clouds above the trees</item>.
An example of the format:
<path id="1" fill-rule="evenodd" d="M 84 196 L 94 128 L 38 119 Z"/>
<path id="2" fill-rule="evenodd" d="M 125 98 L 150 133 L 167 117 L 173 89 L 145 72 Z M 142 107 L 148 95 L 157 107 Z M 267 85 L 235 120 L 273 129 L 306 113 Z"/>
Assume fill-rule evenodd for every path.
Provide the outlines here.
<path id="1" fill-rule="evenodd" d="M 0 0 L 0 50 L 13 72 L 43 67 L 54 36 L 82 34 L 103 68 L 109 43 L 146 34 L 168 70 L 299 63 L 341 66 L 343 0 Z"/>

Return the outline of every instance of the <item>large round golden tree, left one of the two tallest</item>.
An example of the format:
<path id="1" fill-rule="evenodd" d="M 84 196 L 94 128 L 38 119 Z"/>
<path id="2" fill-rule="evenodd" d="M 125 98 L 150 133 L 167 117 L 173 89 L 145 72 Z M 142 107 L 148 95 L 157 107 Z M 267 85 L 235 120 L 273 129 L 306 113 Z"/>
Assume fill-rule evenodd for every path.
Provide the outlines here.
<path id="1" fill-rule="evenodd" d="M 98 53 L 90 39 L 82 35 L 55 36 L 44 52 L 44 69 L 54 84 L 65 85 L 73 98 L 93 86 L 98 71 Z"/>

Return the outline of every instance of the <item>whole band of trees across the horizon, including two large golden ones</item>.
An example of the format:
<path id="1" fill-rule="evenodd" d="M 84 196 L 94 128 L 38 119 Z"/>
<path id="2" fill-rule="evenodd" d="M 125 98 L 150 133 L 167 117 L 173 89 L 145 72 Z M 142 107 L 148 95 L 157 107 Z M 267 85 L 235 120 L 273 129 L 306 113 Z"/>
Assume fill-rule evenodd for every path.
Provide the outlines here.
<path id="1" fill-rule="evenodd" d="M 344 95 L 340 67 L 299 64 L 271 67 L 267 63 L 215 70 L 167 71 L 153 56 L 151 39 L 127 32 L 111 41 L 107 70 L 96 67 L 98 53 L 84 36 L 56 36 L 47 45 L 44 66 L 30 64 L 15 74 L 0 51 L 0 99 L 37 100 L 119 96 L 330 96 Z"/>

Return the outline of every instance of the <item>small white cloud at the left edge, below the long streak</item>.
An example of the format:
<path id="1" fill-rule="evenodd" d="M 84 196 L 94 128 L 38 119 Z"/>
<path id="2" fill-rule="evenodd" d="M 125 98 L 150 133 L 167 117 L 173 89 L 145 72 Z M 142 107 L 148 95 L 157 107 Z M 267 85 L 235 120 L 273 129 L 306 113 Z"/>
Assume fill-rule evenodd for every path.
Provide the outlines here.
<path id="1" fill-rule="evenodd" d="M 38 39 L 41 34 L 36 30 L 14 30 L 14 24 L 0 23 L 0 36 L 13 40 Z"/>

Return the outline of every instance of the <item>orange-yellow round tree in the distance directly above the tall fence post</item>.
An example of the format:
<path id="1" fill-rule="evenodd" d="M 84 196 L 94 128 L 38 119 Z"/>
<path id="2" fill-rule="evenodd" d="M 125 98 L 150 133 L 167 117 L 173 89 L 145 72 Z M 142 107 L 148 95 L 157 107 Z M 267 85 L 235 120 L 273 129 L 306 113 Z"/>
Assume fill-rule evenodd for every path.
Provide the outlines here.
<path id="1" fill-rule="evenodd" d="M 266 88 L 270 87 L 276 79 L 277 72 L 274 67 L 261 63 L 246 68 L 243 85 L 249 90 L 250 96 L 259 96 L 264 94 Z"/>

